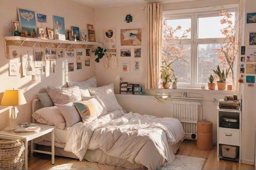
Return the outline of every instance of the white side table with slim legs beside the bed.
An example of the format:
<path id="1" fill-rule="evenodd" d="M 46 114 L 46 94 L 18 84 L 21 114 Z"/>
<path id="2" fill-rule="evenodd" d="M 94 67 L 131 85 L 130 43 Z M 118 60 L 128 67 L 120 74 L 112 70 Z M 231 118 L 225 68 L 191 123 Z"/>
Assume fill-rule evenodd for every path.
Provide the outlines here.
<path id="1" fill-rule="evenodd" d="M 24 148 L 25 148 L 25 170 L 28 169 L 28 141 L 31 140 L 31 153 L 33 152 L 40 152 L 44 154 L 51 154 L 52 155 L 52 165 L 54 164 L 54 128 L 49 125 L 45 124 L 31 124 L 34 126 L 39 126 L 41 128 L 40 132 L 34 133 L 34 132 L 21 132 L 21 133 L 15 133 L 15 132 L 7 132 L 5 130 L 0 131 L 0 139 L 6 139 L 6 140 L 17 140 L 20 139 L 24 141 Z M 52 152 L 45 152 L 40 150 L 34 150 L 34 143 L 33 139 L 38 138 L 40 136 L 43 136 L 48 133 L 52 133 Z"/>

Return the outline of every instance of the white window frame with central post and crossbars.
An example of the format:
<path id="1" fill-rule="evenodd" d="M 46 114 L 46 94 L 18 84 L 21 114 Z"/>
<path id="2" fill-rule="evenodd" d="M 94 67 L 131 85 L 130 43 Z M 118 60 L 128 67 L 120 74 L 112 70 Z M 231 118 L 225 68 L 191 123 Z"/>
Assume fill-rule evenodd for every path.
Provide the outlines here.
<path id="1" fill-rule="evenodd" d="M 222 44 L 225 38 L 198 38 L 198 18 L 202 17 L 214 17 L 218 16 L 221 8 L 228 10 L 228 12 L 235 12 L 235 21 L 238 18 L 238 4 L 218 6 L 218 7 L 206 7 L 206 8 L 194 8 L 194 9 L 184 9 L 184 10 L 167 10 L 163 11 L 163 20 L 172 19 L 185 19 L 191 18 L 191 38 L 190 39 L 180 39 L 180 40 L 162 40 L 162 45 L 174 45 L 174 44 L 191 44 L 191 57 L 190 57 L 190 83 L 180 83 L 179 87 L 184 88 L 200 88 L 202 84 L 207 83 L 197 83 L 198 82 L 198 45 L 199 44 Z M 238 38 L 238 34 L 236 35 Z M 162 56 L 161 56 L 162 58 Z M 237 78 L 237 60 L 234 60 L 234 79 Z M 214 72 L 212 72 L 213 75 Z"/>

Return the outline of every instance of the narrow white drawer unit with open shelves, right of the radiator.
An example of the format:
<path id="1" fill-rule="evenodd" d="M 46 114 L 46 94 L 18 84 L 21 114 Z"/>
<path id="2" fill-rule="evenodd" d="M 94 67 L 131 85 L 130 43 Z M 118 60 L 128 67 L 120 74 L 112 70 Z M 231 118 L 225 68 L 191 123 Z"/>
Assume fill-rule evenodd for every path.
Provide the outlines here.
<path id="1" fill-rule="evenodd" d="M 227 159 L 241 163 L 241 122 L 242 112 L 237 109 L 220 109 L 217 108 L 217 160 Z M 225 157 L 222 155 L 222 145 L 230 148 L 238 148 L 235 156 Z M 238 146 L 238 147 L 237 147 Z M 223 152 L 227 152 L 224 150 Z M 229 155 L 229 154 L 228 154 Z"/>

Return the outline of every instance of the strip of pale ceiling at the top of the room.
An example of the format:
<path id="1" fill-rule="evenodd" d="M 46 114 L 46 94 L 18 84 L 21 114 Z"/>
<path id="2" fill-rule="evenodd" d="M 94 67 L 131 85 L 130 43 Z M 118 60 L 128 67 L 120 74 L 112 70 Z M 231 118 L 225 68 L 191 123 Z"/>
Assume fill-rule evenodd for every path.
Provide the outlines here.
<path id="1" fill-rule="evenodd" d="M 72 0 L 72 1 L 97 9 L 97 8 L 128 6 L 128 5 L 136 5 L 136 4 L 148 4 L 148 3 L 154 3 L 154 2 L 177 3 L 177 2 L 190 2 L 190 1 L 196 1 L 196 0 Z"/>

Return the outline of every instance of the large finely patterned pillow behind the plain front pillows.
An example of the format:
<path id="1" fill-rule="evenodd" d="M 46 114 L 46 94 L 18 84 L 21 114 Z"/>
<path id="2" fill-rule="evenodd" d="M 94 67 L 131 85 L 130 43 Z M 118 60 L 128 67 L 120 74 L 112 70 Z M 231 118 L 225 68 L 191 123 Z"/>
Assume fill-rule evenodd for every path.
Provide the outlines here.
<path id="1" fill-rule="evenodd" d="M 79 88 L 76 87 L 48 86 L 46 90 L 54 104 L 67 104 L 82 100 L 81 92 Z"/>

